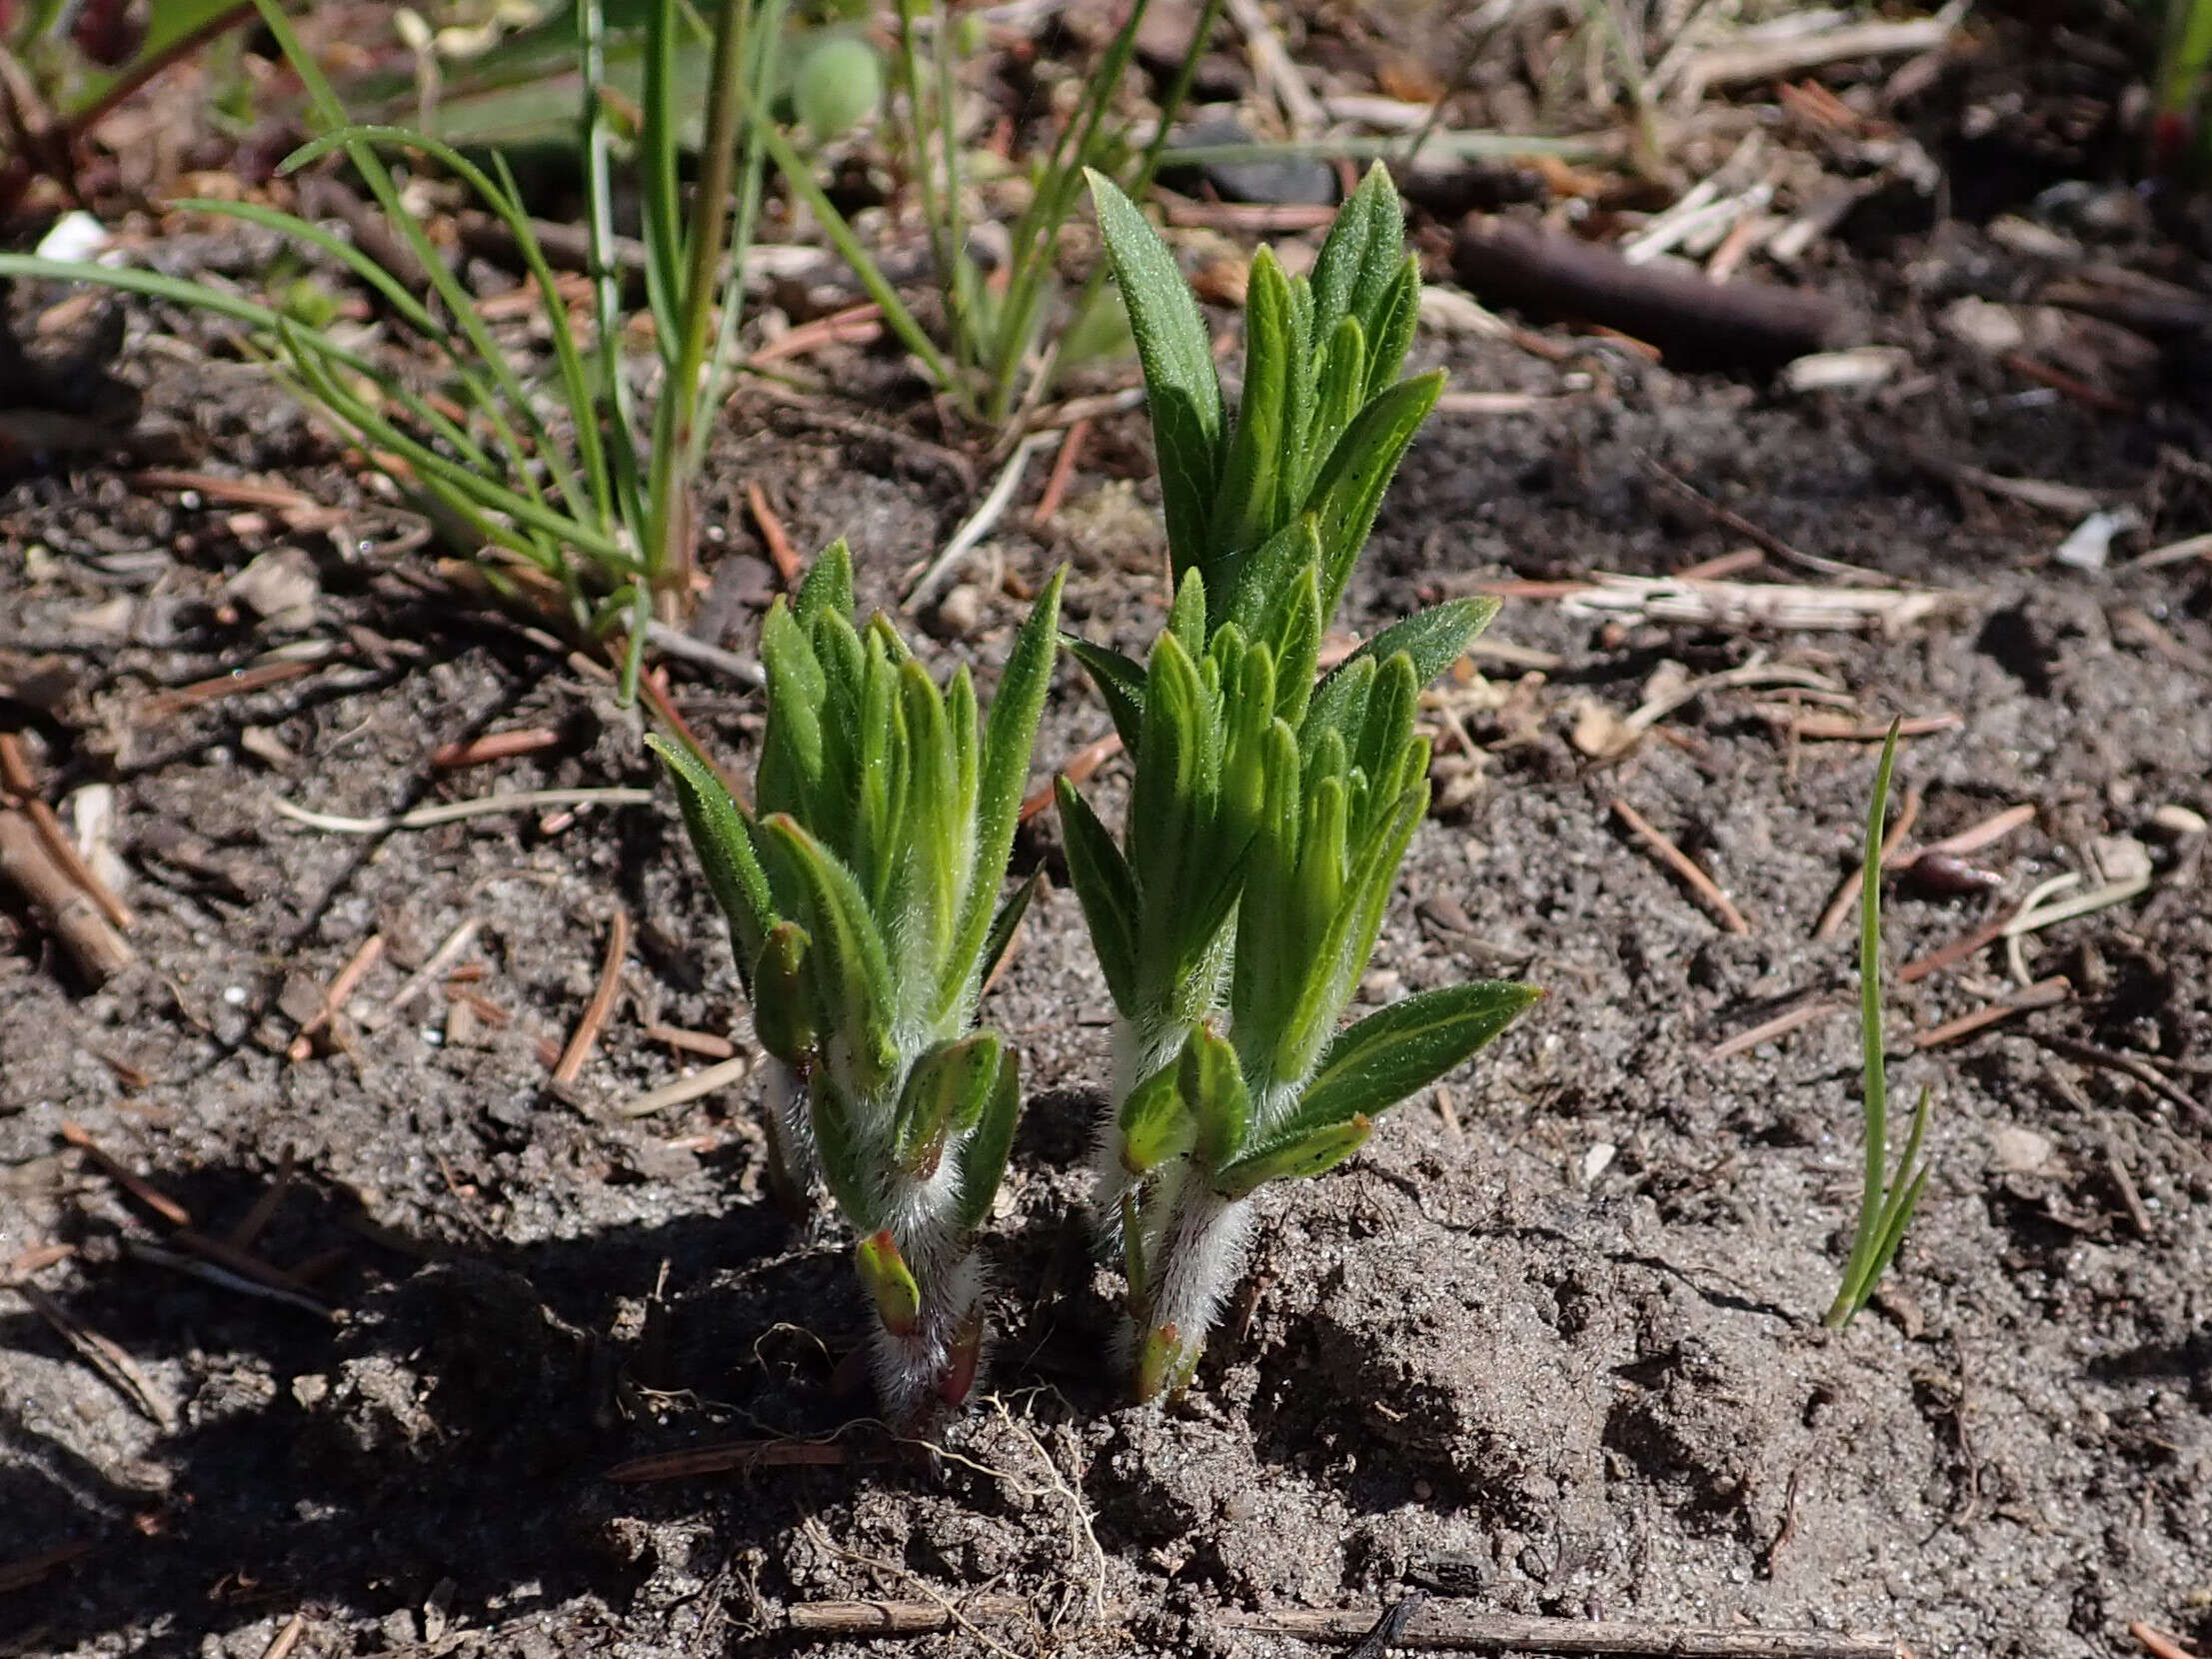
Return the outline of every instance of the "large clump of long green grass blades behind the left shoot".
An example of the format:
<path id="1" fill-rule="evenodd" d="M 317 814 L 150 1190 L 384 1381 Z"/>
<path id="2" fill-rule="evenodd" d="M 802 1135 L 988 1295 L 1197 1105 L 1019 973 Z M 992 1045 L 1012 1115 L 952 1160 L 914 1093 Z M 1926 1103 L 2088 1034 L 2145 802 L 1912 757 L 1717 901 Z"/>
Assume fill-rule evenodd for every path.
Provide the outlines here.
<path id="1" fill-rule="evenodd" d="M 759 201 L 759 128 L 745 119 L 774 73 L 781 0 L 721 0 L 706 33 L 679 0 L 650 0 L 644 100 L 637 106 L 635 184 L 646 246 L 646 294 L 659 354 L 650 418 L 630 392 L 622 341 L 630 323 L 615 265 L 615 128 L 606 88 L 599 0 L 577 4 L 577 113 L 591 230 L 591 330 L 568 321 L 522 190 L 504 157 L 489 170 L 436 137 L 400 126 L 356 126 L 279 0 L 257 0 L 261 20 L 301 77 L 321 137 L 290 155 L 299 170 L 345 155 L 376 208 L 429 281 L 414 294 L 394 272 L 319 223 L 239 201 L 175 206 L 241 219 L 345 265 L 372 288 L 438 385 L 416 389 L 389 361 L 303 327 L 281 299 L 263 303 L 159 272 L 0 254 L 0 276 L 86 281 L 232 319 L 252 330 L 279 374 L 321 416 L 403 482 L 445 533 L 480 555 L 507 593 L 553 599 L 575 630 L 622 637 L 624 690 L 635 692 L 650 624 L 672 619 L 690 595 L 697 540 L 695 484 L 712 411 L 728 383 L 741 272 Z M 677 55 L 710 53 L 697 186 L 679 184 Z M 624 100 L 626 102 L 626 100 Z M 509 358 L 462 281 L 400 199 L 387 153 L 422 157 L 489 208 L 538 290 L 549 323 L 551 372 Z"/>

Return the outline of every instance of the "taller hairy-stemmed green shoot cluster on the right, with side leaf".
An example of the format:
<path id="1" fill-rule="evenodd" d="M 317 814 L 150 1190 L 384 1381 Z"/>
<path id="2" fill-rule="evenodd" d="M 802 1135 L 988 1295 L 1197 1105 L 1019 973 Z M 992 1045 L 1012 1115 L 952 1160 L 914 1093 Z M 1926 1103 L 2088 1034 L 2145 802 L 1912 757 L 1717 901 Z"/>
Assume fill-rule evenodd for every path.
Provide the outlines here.
<path id="1" fill-rule="evenodd" d="M 1254 1188 L 1349 1157 L 1540 993 L 1447 987 L 1338 1031 L 1429 807 L 1420 686 L 1495 613 L 1425 611 L 1314 681 L 1442 389 L 1398 378 L 1420 276 L 1389 177 L 1345 204 L 1312 281 L 1254 257 L 1234 425 L 1172 254 L 1113 184 L 1091 188 L 1144 363 L 1175 604 L 1141 666 L 1071 641 L 1135 761 L 1119 843 L 1057 794 L 1117 1011 L 1095 1210 L 1121 1245 L 1137 1394 L 1157 1398 L 1190 1383 L 1243 1270 Z"/>

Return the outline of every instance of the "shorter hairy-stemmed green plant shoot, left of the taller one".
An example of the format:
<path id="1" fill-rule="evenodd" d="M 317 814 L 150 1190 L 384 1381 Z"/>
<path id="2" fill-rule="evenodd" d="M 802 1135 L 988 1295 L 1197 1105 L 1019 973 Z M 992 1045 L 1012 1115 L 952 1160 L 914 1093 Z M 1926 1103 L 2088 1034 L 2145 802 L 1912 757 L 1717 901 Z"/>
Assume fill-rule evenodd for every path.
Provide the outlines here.
<path id="1" fill-rule="evenodd" d="M 1060 575 L 978 714 L 967 666 L 938 688 L 898 630 L 852 622 L 838 542 L 761 630 L 768 730 L 757 812 L 686 750 L 668 763 L 730 922 L 754 1031 L 781 1071 L 783 1179 L 818 1168 L 858 1234 L 883 1405 L 967 1400 L 982 1354 L 975 1228 L 991 1212 L 1020 1082 L 975 1000 L 1029 900 L 1000 905 Z M 774 1084 L 772 1084 L 774 1086 Z"/>

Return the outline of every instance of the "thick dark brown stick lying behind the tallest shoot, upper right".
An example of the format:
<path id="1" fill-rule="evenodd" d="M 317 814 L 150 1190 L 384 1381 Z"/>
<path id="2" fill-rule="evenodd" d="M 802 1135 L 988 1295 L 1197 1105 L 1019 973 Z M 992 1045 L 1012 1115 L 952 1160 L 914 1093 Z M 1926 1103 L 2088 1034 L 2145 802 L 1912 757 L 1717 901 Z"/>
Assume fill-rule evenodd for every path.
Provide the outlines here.
<path id="1" fill-rule="evenodd" d="M 1460 226 L 1451 268 L 1484 305 L 1604 323 L 1686 367 L 1781 367 L 1843 327 L 1843 310 L 1812 290 L 1630 265 L 1613 248 L 1482 215 Z"/>

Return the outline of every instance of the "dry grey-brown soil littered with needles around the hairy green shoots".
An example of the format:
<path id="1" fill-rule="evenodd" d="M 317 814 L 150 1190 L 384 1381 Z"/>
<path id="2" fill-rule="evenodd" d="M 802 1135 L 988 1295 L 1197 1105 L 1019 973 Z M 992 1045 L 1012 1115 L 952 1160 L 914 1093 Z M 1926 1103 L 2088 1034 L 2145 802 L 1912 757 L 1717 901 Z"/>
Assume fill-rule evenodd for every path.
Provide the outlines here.
<path id="1" fill-rule="evenodd" d="M 1422 827 L 1367 989 L 1513 973 L 1551 998 L 1349 1166 L 1270 1192 L 1252 1292 L 1166 1413 L 1121 1405 L 1099 1358 L 1113 1279 L 1079 1203 L 1106 1002 L 1051 891 L 989 1004 L 1029 1088 L 991 1234 L 995 1398 L 927 1449 L 838 1391 L 858 1329 L 843 1243 L 832 1217 L 794 1225 L 768 1201 L 750 1093 L 619 1110 L 697 1064 L 648 1024 L 743 1040 L 666 792 L 372 836 L 274 810 L 653 787 L 637 717 L 544 641 L 409 588 L 429 555 L 394 551 L 403 520 L 248 372 L 159 347 L 170 330 L 137 314 L 122 372 L 150 422 L 188 434 L 201 467 L 347 511 L 336 533 L 288 533 L 281 513 L 241 524 L 237 502 L 104 467 L 0 495 L 0 646 L 55 653 L 75 679 L 31 730 L 58 792 L 115 783 L 142 956 L 86 991 L 29 918 L 0 922 L 0 1261 L 73 1245 L 29 1283 L 137 1378 L 104 1380 L 0 1290 L 0 1564 L 86 1546 L 0 1586 L 0 1650 L 250 1657 L 303 1615 L 294 1652 L 827 1657 L 885 1648 L 776 1635 L 787 1606 L 993 1595 L 1020 1613 L 905 1650 L 1256 1659 L 1307 1648 L 1239 1617 L 1416 1586 L 1495 1610 L 1878 1630 L 1931 1657 L 2119 1655 L 2130 1619 L 2212 1637 L 2212 860 L 2185 818 L 2154 818 L 2212 814 L 2212 566 L 2053 564 L 2070 518 L 1900 458 L 1916 440 L 2137 502 L 2163 540 L 2212 522 L 2203 427 L 2185 400 L 2124 418 L 1942 343 L 1940 303 L 2011 281 L 1973 228 L 1867 272 L 1854 296 L 1916 369 L 1843 400 L 1619 352 L 1422 341 L 1460 389 L 1531 403 L 1431 425 L 1354 630 L 1480 582 L 1652 575 L 1743 544 L 1646 458 L 1805 553 L 1958 599 L 1889 635 L 1509 599 L 1491 637 L 1517 653 L 1480 657 L 1433 710 L 1462 799 Z M 1144 641 L 1144 442 L 1139 416 L 1108 422 L 1053 526 L 1018 513 L 987 544 L 958 648 L 995 661 L 1013 595 L 1053 560 L 1075 571 L 1071 626 Z M 801 544 L 849 535 L 872 599 L 971 500 L 927 447 L 741 400 L 710 502 L 710 604 L 734 648 L 772 588 L 737 511 L 748 478 Z M 257 622 L 223 584 L 274 544 L 305 553 L 316 593 Z M 1752 580 L 1851 584 L 1776 560 Z M 288 641 L 314 641 L 310 672 L 161 699 Z M 1896 1062 L 1900 1095 L 1938 1093 L 1933 1177 L 1889 1292 L 1840 1336 L 1818 1314 L 1856 1203 L 1854 1020 L 1712 1051 L 1849 991 L 1849 940 L 1812 933 L 1851 867 L 1874 750 L 1792 741 L 1783 688 L 1721 686 L 1626 754 L 1586 752 L 1655 679 L 1754 661 L 1840 692 L 1798 714 L 1958 717 L 1905 748 L 1916 841 L 2035 810 L 1975 854 L 1993 891 L 1893 889 L 1893 962 L 2046 878 L 2095 885 L 2126 865 L 2115 841 L 2152 872 L 2022 942 L 2031 978 L 2066 978 L 2062 1002 Z M 745 761 L 750 692 L 679 675 L 677 701 Z M 540 726 L 560 737 L 531 757 L 427 768 L 442 743 Z M 1104 730 L 1064 672 L 1040 768 Z M 1117 801 L 1113 768 L 1097 787 Z M 1719 880 L 1747 933 L 1621 830 L 1615 796 Z M 1018 863 L 1057 858 L 1040 818 Z M 622 1002 L 582 1079 L 549 1088 L 546 1046 L 591 995 L 617 907 L 639 922 Z M 465 920 L 462 982 L 387 1018 Z M 341 1040 L 288 1060 L 296 1015 L 369 933 L 385 956 Z M 1982 949 L 1896 987 L 1893 1031 L 2008 989 L 2004 949 Z M 2121 1064 L 2081 1057 L 2097 1051 Z M 254 1248 L 336 1312 L 179 1272 L 173 1223 L 66 1124 L 217 1237 L 290 1168 Z M 810 1444 L 774 1462 L 608 1480 L 648 1453 L 794 1438 Z"/>

